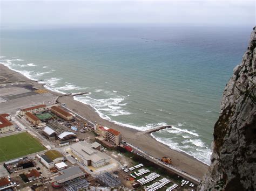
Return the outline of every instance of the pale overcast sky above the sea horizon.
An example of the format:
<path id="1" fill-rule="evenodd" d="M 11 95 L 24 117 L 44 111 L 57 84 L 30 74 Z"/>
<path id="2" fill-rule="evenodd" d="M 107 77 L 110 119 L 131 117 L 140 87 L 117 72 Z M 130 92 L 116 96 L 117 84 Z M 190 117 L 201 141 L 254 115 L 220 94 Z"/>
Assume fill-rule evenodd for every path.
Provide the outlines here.
<path id="1" fill-rule="evenodd" d="M 94 0 L 1 2 L 1 26 L 86 24 L 255 25 L 255 1 Z"/>

